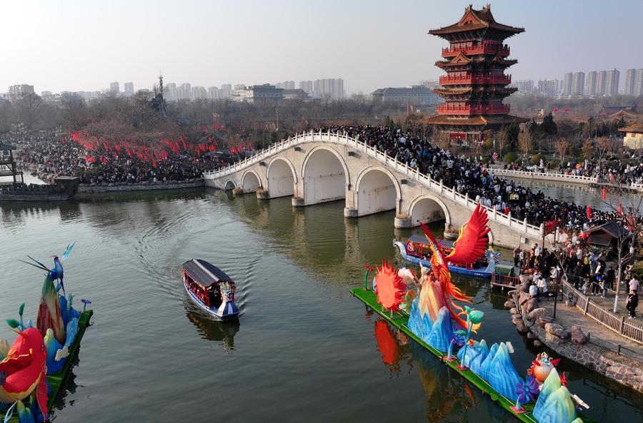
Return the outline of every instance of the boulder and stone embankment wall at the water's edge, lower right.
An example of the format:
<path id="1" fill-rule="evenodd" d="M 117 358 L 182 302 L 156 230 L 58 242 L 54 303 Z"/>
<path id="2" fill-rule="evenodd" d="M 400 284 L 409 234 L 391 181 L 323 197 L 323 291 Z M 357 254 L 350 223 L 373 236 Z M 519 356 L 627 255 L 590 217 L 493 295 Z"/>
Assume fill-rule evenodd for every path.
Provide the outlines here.
<path id="1" fill-rule="evenodd" d="M 518 332 L 532 340 L 535 346 L 547 345 L 559 355 L 603 374 L 627 387 L 643 392 L 643 362 L 589 342 L 582 327 L 563 327 L 538 300 L 529 295 L 527 283 L 509 292 L 504 303 L 512 314 Z M 562 305 L 564 307 L 564 305 Z"/>

